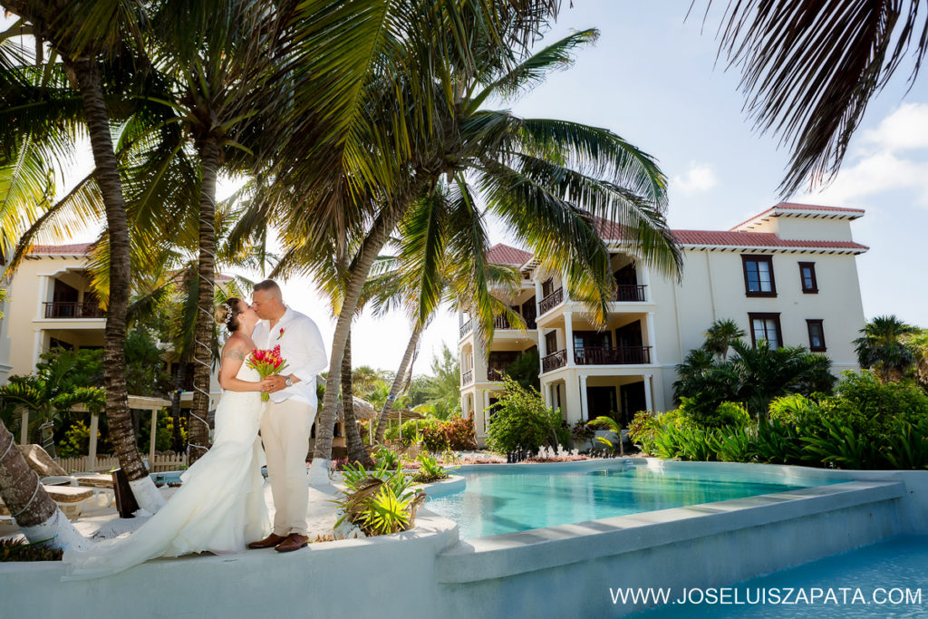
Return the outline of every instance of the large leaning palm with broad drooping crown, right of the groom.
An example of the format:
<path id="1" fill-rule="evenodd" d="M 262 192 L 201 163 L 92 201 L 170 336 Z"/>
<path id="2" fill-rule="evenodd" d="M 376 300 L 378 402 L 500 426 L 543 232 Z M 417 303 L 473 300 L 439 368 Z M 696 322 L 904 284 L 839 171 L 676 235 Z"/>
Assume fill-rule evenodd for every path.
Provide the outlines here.
<path id="1" fill-rule="evenodd" d="M 518 25 L 511 27 L 517 29 Z M 411 53 L 423 51 L 415 48 L 421 43 L 420 34 L 408 39 L 408 45 L 413 47 Z M 475 194 L 482 193 L 487 207 L 518 230 L 535 254 L 543 258 L 544 265 L 566 264 L 574 298 L 587 300 L 599 321 L 605 320 L 614 282 L 609 252 L 599 239 L 594 215 L 618 222 L 626 241 L 645 263 L 665 272 L 677 271 L 679 253 L 663 217 L 665 179 L 650 156 L 604 129 L 525 120 L 508 111 L 483 109 L 491 96 L 521 92 L 548 71 L 563 66 L 576 46 L 595 35 L 595 31 L 579 32 L 527 56 L 483 38 L 481 32 L 472 32 L 468 40 L 474 41 L 470 45 L 474 58 L 451 58 L 437 67 L 432 59 L 430 65 L 415 74 L 400 72 L 380 77 L 375 92 L 370 93 L 371 111 L 367 113 L 404 110 L 406 117 L 430 119 L 430 125 L 399 143 L 385 135 L 367 138 L 367 144 L 375 145 L 370 153 L 378 161 L 403 166 L 393 185 L 380 182 L 383 171 L 364 167 L 351 174 L 352 178 L 369 179 L 367 183 L 353 180 L 352 187 L 331 194 L 333 200 L 365 200 L 364 208 L 373 209 L 365 220 L 367 235 L 351 268 L 343 309 L 356 307 L 371 264 L 393 226 L 414 204 L 436 194 L 443 175 L 449 185 L 457 187 L 461 200 L 472 204 Z M 434 42 L 430 40 L 429 44 Z M 419 88 L 425 87 L 421 78 L 426 74 L 432 76 L 428 82 L 432 96 L 423 101 Z M 403 82 L 388 84 L 388 80 L 396 79 Z M 397 96 L 401 97 L 399 104 Z M 383 126 L 359 124 L 373 132 Z M 361 129 L 358 126 L 352 132 Z M 366 166 L 367 162 L 358 165 Z M 469 177 L 475 186 L 469 183 Z M 380 183 L 376 189 L 375 182 Z M 380 188 L 383 186 L 386 188 Z M 312 222 L 305 217 L 291 219 L 284 230 L 288 253 L 282 263 L 308 262 L 316 244 L 337 239 L 334 227 L 329 235 L 316 229 L 325 223 L 325 215 Z M 307 228 L 308 224 L 315 226 Z M 342 311 L 332 342 L 329 384 L 317 425 L 316 458 L 329 457 L 335 389 L 349 316 Z M 482 319 L 492 322 L 492 316 Z"/>

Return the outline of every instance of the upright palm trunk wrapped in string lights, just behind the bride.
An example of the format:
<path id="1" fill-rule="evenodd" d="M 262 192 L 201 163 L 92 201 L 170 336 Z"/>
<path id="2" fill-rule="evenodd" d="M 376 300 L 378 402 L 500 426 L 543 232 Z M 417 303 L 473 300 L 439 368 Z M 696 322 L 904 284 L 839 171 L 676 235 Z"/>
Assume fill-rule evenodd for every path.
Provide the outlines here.
<path id="1" fill-rule="evenodd" d="M 215 278 L 216 174 L 219 168 L 219 145 L 206 139 L 200 147 L 200 261 L 197 298 L 197 326 L 193 347 L 193 406 L 187 440 L 189 464 L 206 453 L 210 440 L 207 418 L 210 413 L 210 364 L 213 350 L 213 280 Z"/>

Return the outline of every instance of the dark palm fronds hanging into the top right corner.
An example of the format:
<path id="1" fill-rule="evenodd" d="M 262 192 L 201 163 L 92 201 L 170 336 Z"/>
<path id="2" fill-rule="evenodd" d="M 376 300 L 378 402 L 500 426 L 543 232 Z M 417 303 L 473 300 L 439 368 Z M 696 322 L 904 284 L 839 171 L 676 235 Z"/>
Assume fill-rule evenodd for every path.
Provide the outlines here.
<path id="1" fill-rule="evenodd" d="M 709 2 L 711 4 L 711 0 Z M 870 98 L 909 56 L 915 84 L 928 51 L 922 2 L 728 3 L 720 53 L 741 67 L 745 109 L 793 150 L 784 196 L 837 174 Z"/>

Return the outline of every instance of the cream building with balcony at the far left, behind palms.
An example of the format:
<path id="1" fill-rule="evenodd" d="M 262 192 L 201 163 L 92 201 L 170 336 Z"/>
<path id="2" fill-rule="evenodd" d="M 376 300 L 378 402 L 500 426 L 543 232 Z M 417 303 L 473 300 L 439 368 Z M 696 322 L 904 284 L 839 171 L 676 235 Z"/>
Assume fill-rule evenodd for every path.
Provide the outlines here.
<path id="1" fill-rule="evenodd" d="M 52 348 L 103 347 L 107 319 L 90 286 L 89 251 L 90 243 L 36 245 L 19 264 L 6 285 L 5 317 L 0 319 L 0 384 L 9 376 L 31 373 L 39 355 Z M 176 361 L 167 348 L 164 363 L 173 373 Z M 190 391 L 193 371 L 188 369 L 184 388 Z M 220 393 L 215 371 L 210 393 L 214 406 Z"/>

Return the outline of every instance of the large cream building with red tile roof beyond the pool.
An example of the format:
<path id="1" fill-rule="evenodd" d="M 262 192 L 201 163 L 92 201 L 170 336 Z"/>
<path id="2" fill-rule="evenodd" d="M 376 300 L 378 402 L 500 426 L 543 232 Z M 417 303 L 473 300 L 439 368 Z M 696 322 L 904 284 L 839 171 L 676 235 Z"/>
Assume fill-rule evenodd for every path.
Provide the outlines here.
<path id="1" fill-rule="evenodd" d="M 570 298 L 563 274 L 543 271 L 527 251 L 496 245 L 491 262 L 518 268 L 522 287 L 514 297 L 494 294 L 527 330 L 497 318 L 486 350 L 470 315 L 458 313 L 461 409 L 474 413 L 483 442 L 503 370 L 533 348 L 541 393 L 568 423 L 612 415 L 626 424 L 639 410 L 671 409 L 677 364 L 726 318 L 754 344 L 802 344 L 828 355 L 835 373 L 857 368 L 851 342 L 865 320 L 855 256 L 868 248 L 852 239 L 850 224 L 863 214 L 783 202 L 729 230 L 674 230 L 683 252 L 678 282 L 651 272 L 619 226 L 602 222 L 616 283 L 605 329 Z"/>

